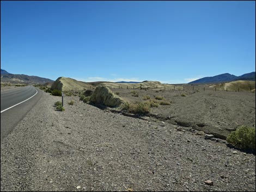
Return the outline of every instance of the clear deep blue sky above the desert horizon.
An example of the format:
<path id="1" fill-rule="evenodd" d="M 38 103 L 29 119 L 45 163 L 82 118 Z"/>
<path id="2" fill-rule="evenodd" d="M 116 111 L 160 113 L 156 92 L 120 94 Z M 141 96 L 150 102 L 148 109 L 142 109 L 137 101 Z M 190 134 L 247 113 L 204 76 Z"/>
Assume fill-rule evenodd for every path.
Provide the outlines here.
<path id="1" fill-rule="evenodd" d="M 1 1 L 1 69 L 187 83 L 255 71 L 254 1 Z"/>

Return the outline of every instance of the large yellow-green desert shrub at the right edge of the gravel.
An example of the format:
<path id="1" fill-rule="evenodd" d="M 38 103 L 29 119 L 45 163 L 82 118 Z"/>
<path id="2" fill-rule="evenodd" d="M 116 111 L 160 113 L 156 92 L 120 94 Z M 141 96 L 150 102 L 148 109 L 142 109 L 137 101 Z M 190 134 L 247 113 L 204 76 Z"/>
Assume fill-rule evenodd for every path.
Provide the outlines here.
<path id="1" fill-rule="evenodd" d="M 241 126 L 228 135 L 227 141 L 236 147 L 255 151 L 255 127 Z"/>

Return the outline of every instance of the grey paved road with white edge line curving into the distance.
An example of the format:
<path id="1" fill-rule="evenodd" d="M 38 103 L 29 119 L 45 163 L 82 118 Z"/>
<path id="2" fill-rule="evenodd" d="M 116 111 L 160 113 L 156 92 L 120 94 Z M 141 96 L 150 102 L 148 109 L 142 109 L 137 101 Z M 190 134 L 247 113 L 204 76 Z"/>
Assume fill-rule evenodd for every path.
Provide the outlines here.
<path id="1" fill-rule="evenodd" d="M 35 106 L 41 96 L 41 90 L 33 86 L 1 91 L 1 141 L 6 135 L 13 131 L 17 123 Z M 30 99 L 27 100 L 28 98 Z M 21 103 L 22 101 L 25 102 Z M 15 106 L 16 104 L 18 105 Z"/>

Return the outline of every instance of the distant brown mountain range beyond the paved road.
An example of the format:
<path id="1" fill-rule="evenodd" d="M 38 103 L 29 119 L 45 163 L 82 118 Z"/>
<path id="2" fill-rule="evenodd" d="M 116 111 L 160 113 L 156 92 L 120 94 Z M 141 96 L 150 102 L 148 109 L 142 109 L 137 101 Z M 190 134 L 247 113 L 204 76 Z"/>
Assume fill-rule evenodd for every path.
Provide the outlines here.
<path id="1" fill-rule="evenodd" d="M 51 79 L 42 78 L 38 76 L 11 74 L 1 69 L 1 83 L 2 82 L 20 83 L 20 84 L 43 84 L 43 83 L 51 83 L 54 81 Z"/>

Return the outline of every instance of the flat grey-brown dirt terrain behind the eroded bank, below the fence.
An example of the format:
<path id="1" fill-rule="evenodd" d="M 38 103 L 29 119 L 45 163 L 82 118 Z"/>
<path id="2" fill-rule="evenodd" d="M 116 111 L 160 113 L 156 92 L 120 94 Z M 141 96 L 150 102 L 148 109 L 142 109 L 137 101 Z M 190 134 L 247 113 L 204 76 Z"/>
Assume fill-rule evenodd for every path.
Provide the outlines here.
<path id="1" fill-rule="evenodd" d="M 255 127 L 255 92 L 215 91 L 204 86 L 187 86 L 185 90 L 170 89 L 112 89 L 130 103 L 145 102 L 143 96 L 162 96 L 170 105 L 150 108 L 149 116 L 193 128 L 225 139 L 241 125 Z M 132 96 L 136 91 L 138 97 Z M 158 100 L 160 102 L 160 100 Z"/>

